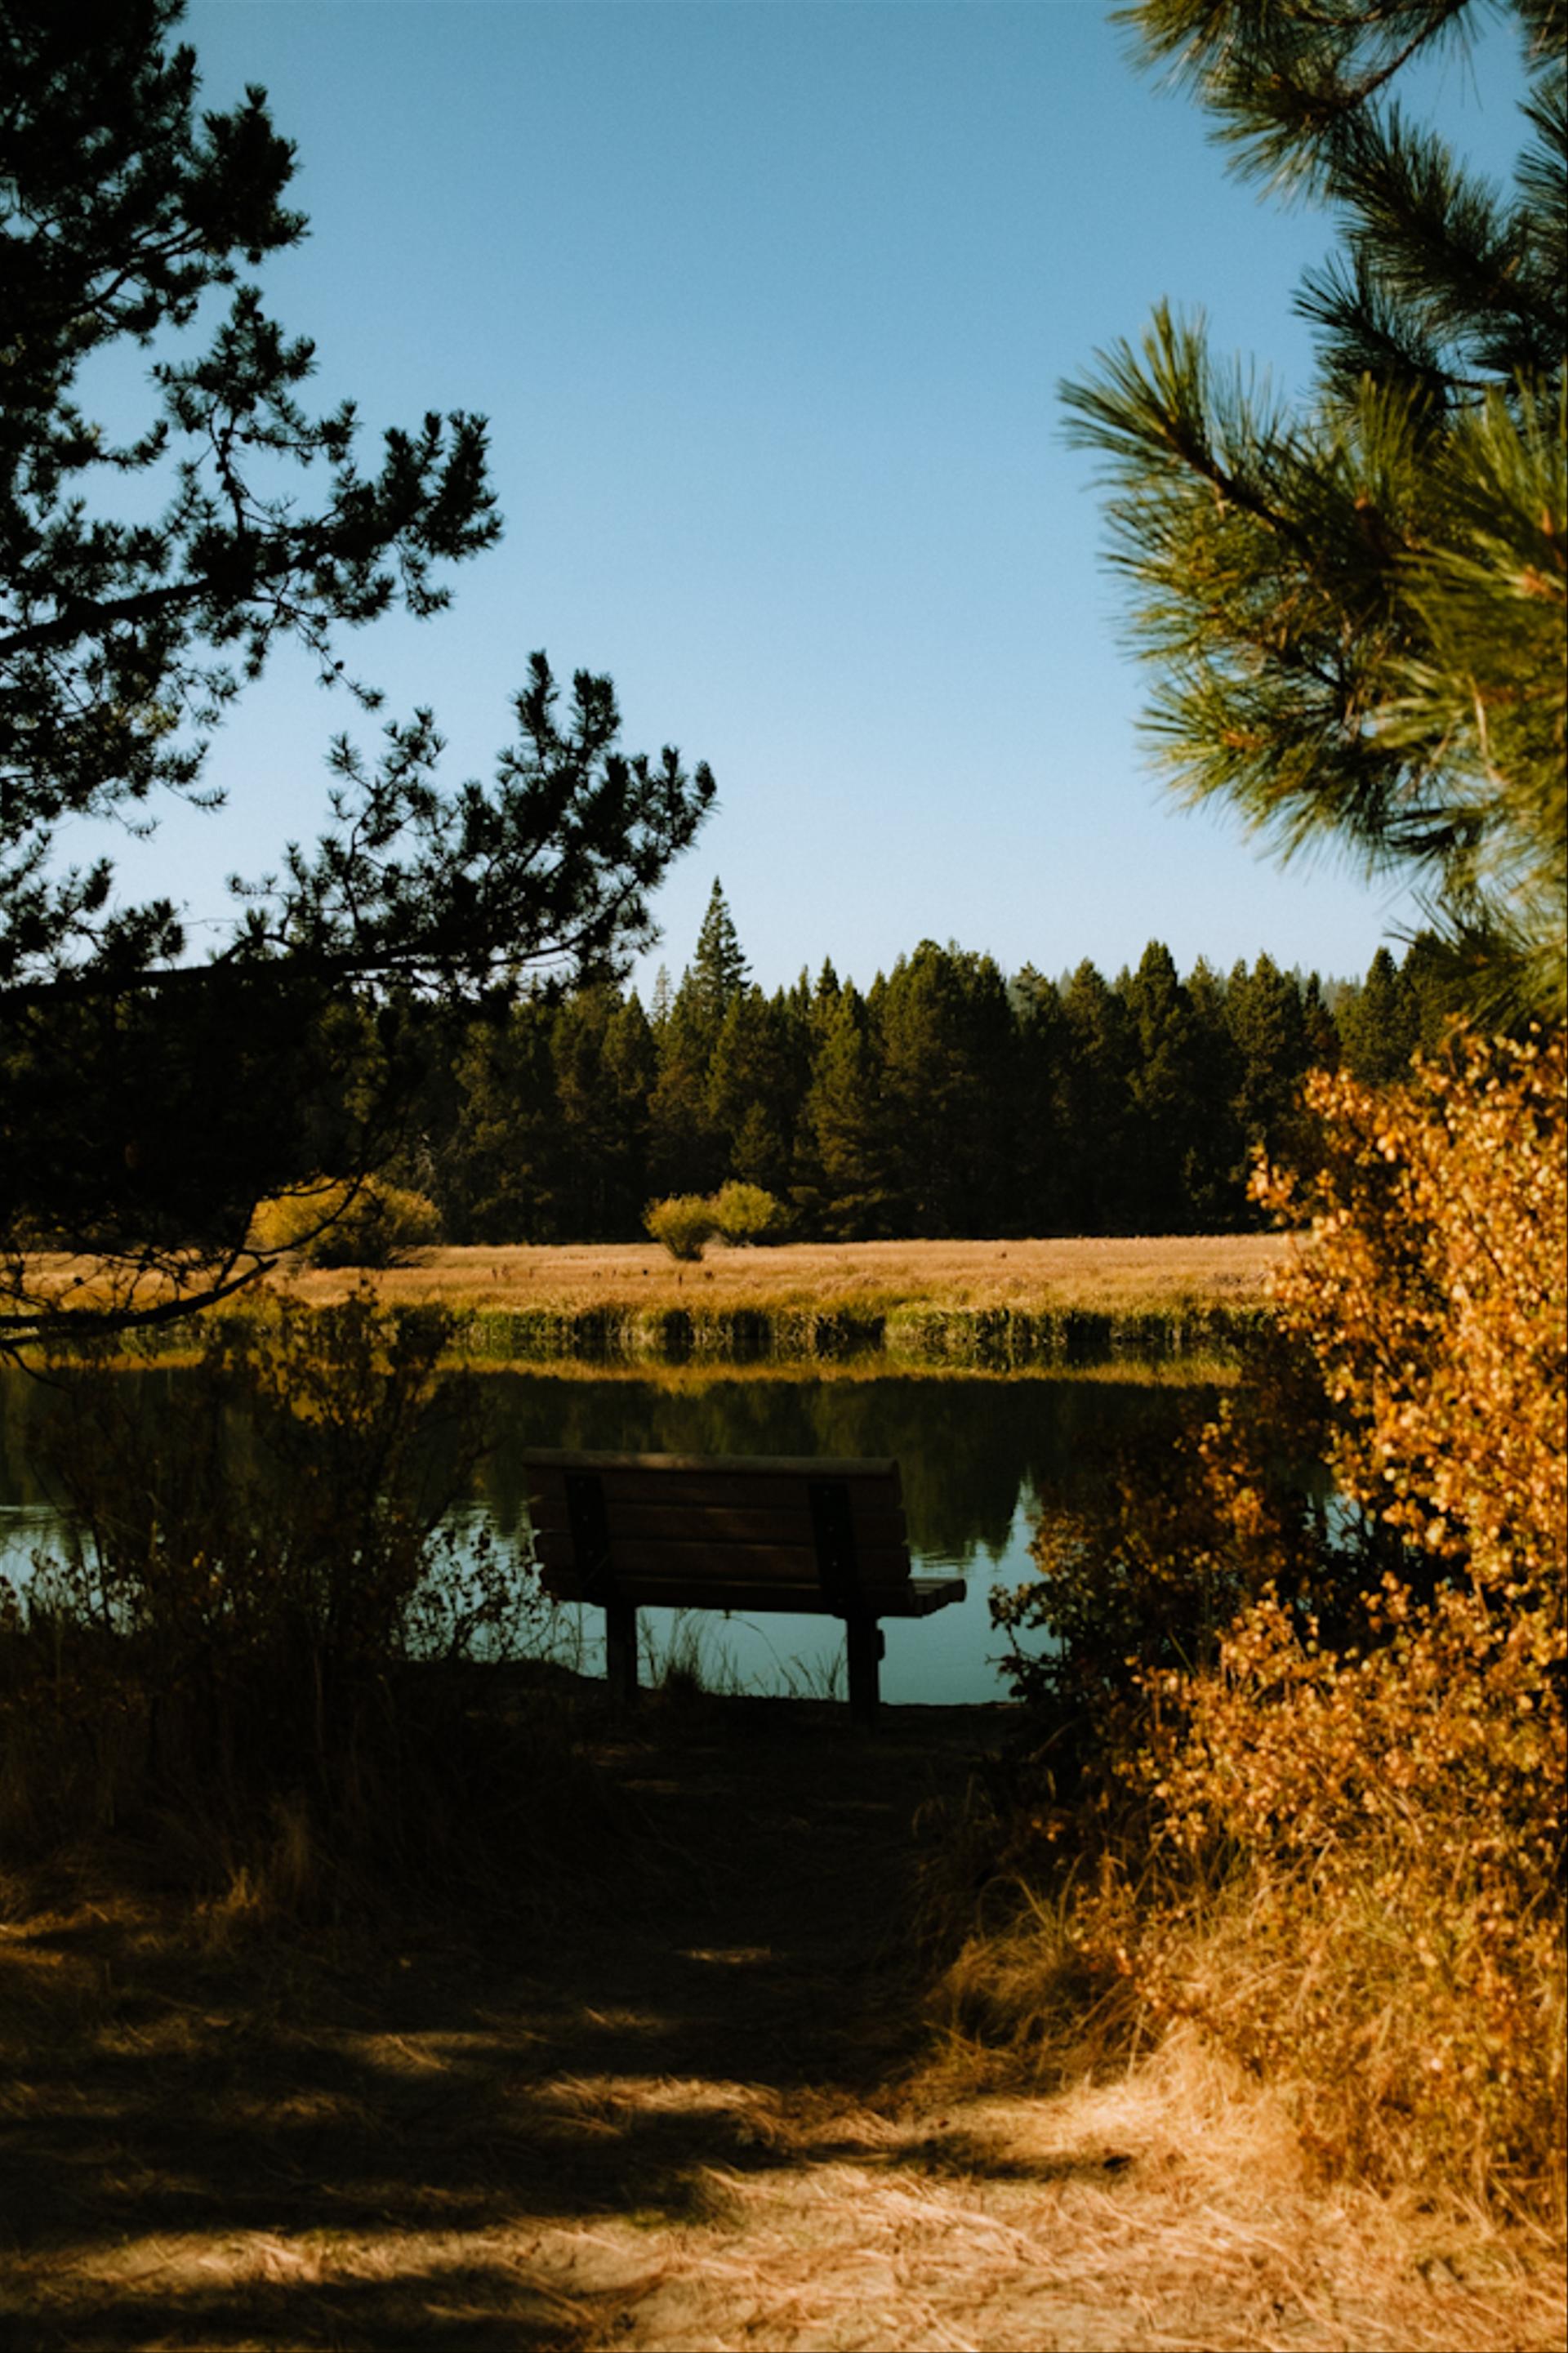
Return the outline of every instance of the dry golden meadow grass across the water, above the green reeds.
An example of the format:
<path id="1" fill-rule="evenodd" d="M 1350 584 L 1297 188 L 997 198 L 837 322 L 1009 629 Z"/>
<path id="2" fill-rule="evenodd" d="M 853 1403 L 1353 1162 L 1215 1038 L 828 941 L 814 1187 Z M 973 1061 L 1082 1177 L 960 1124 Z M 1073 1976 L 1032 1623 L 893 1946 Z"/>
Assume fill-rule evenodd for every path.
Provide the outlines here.
<path id="1" fill-rule="evenodd" d="M 393 1304 L 447 1308 L 711 1306 L 850 1308 L 857 1304 L 1083 1308 L 1156 1313 L 1175 1304 L 1253 1306 L 1290 1242 L 1274 1233 L 1132 1235 L 1048 1242 L 786 1242 L 709 1247 L 678 1266 L 652 1242 L 421 1249 L 377 1275 Z M 351 1275 L 294 1278 L 306 1299 L 337 1299 Z"/>

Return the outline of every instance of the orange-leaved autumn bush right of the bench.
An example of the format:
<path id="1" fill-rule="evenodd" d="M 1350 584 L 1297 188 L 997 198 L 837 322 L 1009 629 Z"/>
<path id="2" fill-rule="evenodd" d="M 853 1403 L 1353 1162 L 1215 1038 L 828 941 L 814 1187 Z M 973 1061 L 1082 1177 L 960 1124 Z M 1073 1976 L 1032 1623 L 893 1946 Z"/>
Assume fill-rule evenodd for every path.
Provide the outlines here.
<path id="1" fill-rule="evenodd" d="M 1196 2019 L 1330 2169 L 1561 2221 L 1563 1040 L 1311 1108 L 1274 1369 L 1001 1600 L 1064 1647 L 994 1854 L 1057 1889 L 1038 2000 Z"/>

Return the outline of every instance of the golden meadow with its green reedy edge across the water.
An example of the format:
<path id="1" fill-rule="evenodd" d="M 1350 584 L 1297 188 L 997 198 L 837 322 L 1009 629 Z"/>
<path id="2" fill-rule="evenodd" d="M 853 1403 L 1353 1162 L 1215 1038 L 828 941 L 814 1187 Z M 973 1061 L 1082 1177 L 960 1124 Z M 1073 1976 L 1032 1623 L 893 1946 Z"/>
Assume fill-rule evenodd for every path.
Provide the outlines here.
<path id="1" fill-rule="evenodd" d="M 857 1367 L 864 1372 L 1234 1369 L 1267 1320 L 1288 1235 L 1010 1242 L 713 1245 L 680 1266 L 652 1242 L 433 1247 L 379 1273 L 285 1268 L 226 1308 L 266 1322 L 283 1297 L 438 1308 L 452 1355 L 480 1367 Z M 59 1261 L 59 1278 L 66 1261 Z M 153 1329 L 167 1360 L 191 1329 Z"/>

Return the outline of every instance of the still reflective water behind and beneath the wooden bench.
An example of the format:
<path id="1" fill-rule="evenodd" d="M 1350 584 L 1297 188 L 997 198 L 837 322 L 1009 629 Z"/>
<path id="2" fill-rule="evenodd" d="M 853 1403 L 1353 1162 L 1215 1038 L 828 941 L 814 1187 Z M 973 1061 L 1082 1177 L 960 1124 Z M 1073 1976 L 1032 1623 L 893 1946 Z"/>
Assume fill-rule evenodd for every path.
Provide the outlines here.
<path id="1" fill-rule="evenodd" d="M 181 1374 L 127 1374 L 148 1412 L 179 1412 Z M 1161 1447 L 1191 1409 L 1194 1391 L 1132 1381 L 1012 1377 L 789 1374 L 582 1379 L 549 1372 L 485 1374 L 494 1445 L 476 1494 L 454 1515 L 527 1546 L 525 1447 L 647 1454 L 892 1454 L 916 1574 L 965 1579 L 965 1600 L 930 1619 L 888 1621 L 883 1699 L 961 1706 L 1001 1699 L 1003 1638 L 986 1598 L 1029 1577 L 1029 1539 L 1052 1504 L 1097 1475 L 1107 1440 Z M 49 1412 L 26 1381 L 0 1379 L 0 1572 L 26 1574 L 57 1539 L 33 1471 L 28 1431 Z M 560 1609 L 549 1645 L 584 1671 L 603 1671 L 598 1609 Z M 843 1689 L 843 1633 L 819 1617 L 640 1614 L 650 1666 L 690 1659 L 709 1682 L 753 1692 Z"/>

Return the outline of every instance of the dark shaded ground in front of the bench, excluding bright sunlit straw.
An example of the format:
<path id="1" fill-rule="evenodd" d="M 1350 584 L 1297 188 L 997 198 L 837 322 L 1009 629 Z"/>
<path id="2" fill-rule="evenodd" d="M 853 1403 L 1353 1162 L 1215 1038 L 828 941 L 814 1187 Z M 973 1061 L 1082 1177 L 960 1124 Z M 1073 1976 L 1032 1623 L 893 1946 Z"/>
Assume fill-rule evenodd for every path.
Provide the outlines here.
<path id="1" fill-rule="evenodd" d="M 591 1701 L 598 1706 L 598 1701 Z M 1003 1711 L 657 1701 L 629 1835 L 558 1887 L 363 1932 L 101 1894 L 0 1932 L 0 2344 L 577 2346 L 596 2217 L 843 2153 L 918 2040 L 911 1819 Z M 567 1826 L 567 1845 L 570 1845 Z M 857 2141 L 864 2146 L 864 2141 Z"/>

